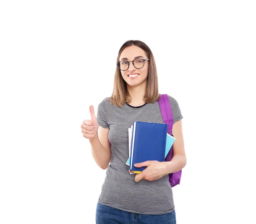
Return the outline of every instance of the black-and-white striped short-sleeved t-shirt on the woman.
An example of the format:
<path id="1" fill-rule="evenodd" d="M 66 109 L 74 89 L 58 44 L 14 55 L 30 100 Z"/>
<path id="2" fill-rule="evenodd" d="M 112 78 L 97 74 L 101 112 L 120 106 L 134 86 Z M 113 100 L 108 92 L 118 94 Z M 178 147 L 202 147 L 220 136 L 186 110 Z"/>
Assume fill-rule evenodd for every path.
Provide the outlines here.
<path id="1" fill-rule="evenodd" d="M 173 122 L 182 119 L 177 101 L 169 97 Z M 108 98 L 100 102 L 97 121 L 103 128 L 109 128 L 111 161 L 106 170 L 105 181 L 99 196 L 99 203 L 120 210 L 142 214 L 165 214 L 174 207 L 169 176 L 154 181 L 135 181 L 135 174 L 129 173 L 126 164 L 129 158 L 128 128 L 133 122 L 163 123 L 158 101 L 139 107 L 124 104 L 122 108 L 110 104 Z M 174 136 L 175 137 L 175 136 Z"/>

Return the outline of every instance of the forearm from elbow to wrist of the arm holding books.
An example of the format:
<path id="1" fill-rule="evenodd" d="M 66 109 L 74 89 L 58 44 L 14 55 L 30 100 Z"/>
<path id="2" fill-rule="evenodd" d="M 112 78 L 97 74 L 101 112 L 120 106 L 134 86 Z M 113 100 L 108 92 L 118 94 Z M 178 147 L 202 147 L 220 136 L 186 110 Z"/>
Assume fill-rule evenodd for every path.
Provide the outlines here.
<path id="1" fill-rule="evenodd" d="M 177 154 L 172 157 L 171 161 L 164 163 L 166 164 L 165 174 L 176 173 L 186 166 L 186 156 Z"/>

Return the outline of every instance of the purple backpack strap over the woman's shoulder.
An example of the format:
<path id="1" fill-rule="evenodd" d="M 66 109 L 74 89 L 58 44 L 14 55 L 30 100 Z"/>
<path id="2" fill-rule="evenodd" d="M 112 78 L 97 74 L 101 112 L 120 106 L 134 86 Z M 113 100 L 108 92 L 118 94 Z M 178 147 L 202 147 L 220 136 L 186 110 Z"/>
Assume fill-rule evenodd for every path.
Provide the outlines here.
<path id="1" fill-rule="evenodd" d="M 161 94 L 160 99 L 158 99 L 158 103 L 162 113 L 163 122 L 168 125 L 167 132 L 172 135 L 173 116 L 168 95 Z"/>

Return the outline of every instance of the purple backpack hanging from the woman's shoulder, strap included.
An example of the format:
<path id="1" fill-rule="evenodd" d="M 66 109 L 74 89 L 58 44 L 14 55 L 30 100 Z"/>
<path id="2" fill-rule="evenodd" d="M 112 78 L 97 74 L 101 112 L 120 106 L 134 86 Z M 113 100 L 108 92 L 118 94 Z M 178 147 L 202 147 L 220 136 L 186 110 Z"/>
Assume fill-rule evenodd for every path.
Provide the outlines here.
<path id="1" fill-rule="evenodd" d="M 169 97 L 167 94 L 161 94 L 160 99 L 158 100 L 160 111 L 162 113 L 163 122 L 167 124 L 167 133 L 172 135 L 172 126 L 173 126 L 173 116 L 172 108 L 169 102 Z M 166 156 L 166 161 L 172 159 L 172 147 L 169 153 Z M 175 187 L 177 184 L 180 184 L 181 170 L 176 173 L 169 173 L 169 181 L 171 187 Z"/>

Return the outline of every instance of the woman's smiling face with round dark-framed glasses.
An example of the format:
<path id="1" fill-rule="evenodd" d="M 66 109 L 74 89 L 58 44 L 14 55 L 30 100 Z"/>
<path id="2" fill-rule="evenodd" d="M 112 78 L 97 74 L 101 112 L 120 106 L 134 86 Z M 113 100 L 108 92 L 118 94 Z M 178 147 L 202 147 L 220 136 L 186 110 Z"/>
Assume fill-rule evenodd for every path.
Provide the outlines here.
<path id="1" fill-rule="evenodd" d="M 125 48 L 119 58 L 119 61 L 133 61 L 136 58 L 148 59 L 145 51 L 139 48 L 138 46 L 132 45 Z M 121 74 L 125 82 L 133 87 L 139 86 L 145 82 L 147 82 L 148 77 L 148 62 L 144 62 L 144 66 L 142 68 L 135 68 L 132 62 L 129 62 L 129 68 L 126 71 L 121 70 Z M 139 61 L 138 63 L 141 63 Z M 143 62 L 142 62 L 143 63 Z M 135 63 L 134 63 L 135 64 Z M 136 65 L 135 65 L 136 66 Z M 139 67 L 139 66 L 136 66 Z"/>

